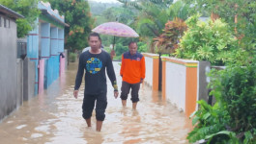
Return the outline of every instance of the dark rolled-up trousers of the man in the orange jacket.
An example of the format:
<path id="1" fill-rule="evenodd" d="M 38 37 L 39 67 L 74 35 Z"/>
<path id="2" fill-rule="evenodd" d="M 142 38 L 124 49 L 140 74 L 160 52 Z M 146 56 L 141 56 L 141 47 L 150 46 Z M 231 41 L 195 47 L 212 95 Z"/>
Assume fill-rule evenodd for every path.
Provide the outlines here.
<path id="1" fill-rule="evenodd" d="M 131 89 L 131 102 L 136 103 L 139 101 L 139 88 L 140 88 L 140 83 L 136 84 L 128 84 L 127 82 L 122 82 L 122 87 L 121 87 L 121 99 L 122 100 L 127 100 L 128 99 L 128 93 L 129 89 Z"/>

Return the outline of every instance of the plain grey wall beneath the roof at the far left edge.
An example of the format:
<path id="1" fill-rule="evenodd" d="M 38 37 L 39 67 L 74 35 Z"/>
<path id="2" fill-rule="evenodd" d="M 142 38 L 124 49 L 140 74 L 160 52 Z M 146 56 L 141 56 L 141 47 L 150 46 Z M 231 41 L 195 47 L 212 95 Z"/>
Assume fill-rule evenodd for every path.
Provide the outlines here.
<path id="1" fill-rule="evenodd" d="M 1 14 L 0 14 L 1 15 Z M 16 97 L 16 24 L 10 19 L 10 28 L 0 27 L 0 119 L 17 106 Z"/>

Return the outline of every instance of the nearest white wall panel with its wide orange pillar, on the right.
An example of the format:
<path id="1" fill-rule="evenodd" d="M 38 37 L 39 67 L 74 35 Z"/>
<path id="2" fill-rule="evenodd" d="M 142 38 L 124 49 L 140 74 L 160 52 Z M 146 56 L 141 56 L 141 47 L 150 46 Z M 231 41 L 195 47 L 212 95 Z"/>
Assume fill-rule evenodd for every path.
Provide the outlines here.
<path id="1" fill-rule="evenodd" d="M 188 117 L 198 107 L 199 74 L 197 60 L 162 57 L 162 95 Z"/>

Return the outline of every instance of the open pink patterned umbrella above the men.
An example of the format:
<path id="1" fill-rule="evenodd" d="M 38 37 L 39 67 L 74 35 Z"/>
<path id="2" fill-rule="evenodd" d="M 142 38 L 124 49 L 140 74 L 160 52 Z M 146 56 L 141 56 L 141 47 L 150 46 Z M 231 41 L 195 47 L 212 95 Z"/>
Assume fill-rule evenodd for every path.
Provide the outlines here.
<path id="1" fill-rule="evenodd" d="M 95 33 L 114 36 L 113 49 L 115 46 L 115 36 L 138 37 L 139 35 L 130 27 L 119 22 L 102 23 L 92 30 Z"/>

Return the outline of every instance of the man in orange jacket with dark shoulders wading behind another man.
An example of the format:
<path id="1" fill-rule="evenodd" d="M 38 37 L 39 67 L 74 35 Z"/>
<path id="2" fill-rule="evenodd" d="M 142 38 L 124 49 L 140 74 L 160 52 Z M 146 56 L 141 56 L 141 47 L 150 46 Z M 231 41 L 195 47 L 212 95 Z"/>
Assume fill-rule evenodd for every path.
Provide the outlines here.
<path id="1" fill-rule="evenodd" d="M 139 101 L 139 88 L 145 78 L 145 58 L 137 52 L 137 43 L 128 43 L 128 52 L 122 55 L 120 75 L 123 78 L 121 99 L 123 107 L 127 106 L 128 93 L 131 89 L 132 108 L 136 109 Z"/>

